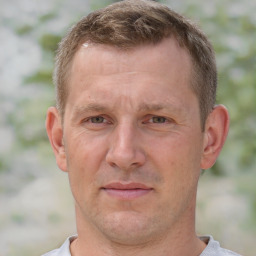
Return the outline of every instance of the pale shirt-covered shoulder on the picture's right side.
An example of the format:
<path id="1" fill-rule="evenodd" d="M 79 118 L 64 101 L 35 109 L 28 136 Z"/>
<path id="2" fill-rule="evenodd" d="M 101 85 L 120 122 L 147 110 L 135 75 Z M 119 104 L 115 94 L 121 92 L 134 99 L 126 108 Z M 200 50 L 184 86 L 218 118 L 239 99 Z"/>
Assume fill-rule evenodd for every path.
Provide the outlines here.
<path id="1" fill-rule="evenodd" d="M 241 256 L 238 253 L 220 247 L 220 243 L 215 241 L 212 236 L 204 236 L 200 237 L 200 239 L 207 243 L 200 256 Z"/>

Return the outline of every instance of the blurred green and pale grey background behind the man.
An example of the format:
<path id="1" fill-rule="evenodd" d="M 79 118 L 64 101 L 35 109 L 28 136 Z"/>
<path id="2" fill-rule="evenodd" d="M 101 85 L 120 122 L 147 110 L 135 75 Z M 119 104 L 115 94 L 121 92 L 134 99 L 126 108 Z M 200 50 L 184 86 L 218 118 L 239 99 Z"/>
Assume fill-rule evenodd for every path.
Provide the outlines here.
<path id="1" fill-rule="evenodd" d="M 67 175 L 44 128 L 54 51 L 67 28 L 113 1 L 0 0 L 0 256 L 41 255 L 76 232 Z M 256 1 L 161 1 L 212 41 L 228 140 L 199 182 L 197 231 L 256 253 Z"/>

